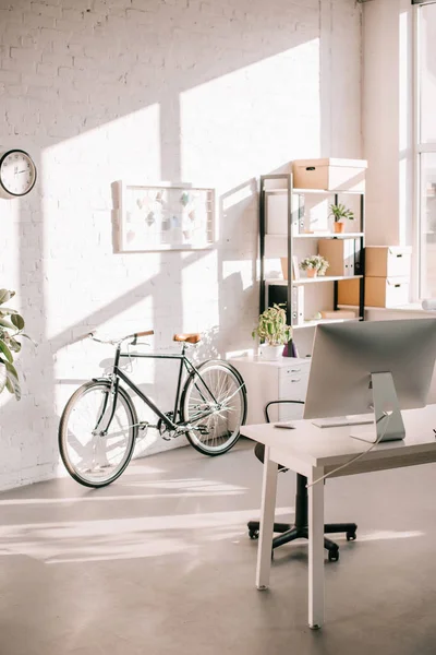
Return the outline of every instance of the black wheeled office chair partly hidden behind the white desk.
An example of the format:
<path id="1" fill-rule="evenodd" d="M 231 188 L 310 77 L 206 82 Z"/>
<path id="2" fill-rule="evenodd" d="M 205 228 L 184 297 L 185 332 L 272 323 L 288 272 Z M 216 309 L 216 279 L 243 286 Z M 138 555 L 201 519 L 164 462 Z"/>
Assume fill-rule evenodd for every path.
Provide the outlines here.
<path id="1" fill-rule="evenodd" d="M 299 404 L 304 405 L 303 401 L 271 401 L 265 407 L 265 419 L 266 422 L 270 422 L 268 409 L 271 405 L 282 404 Z M 263 443 L 256 443 L 254 448 L 256 457 L 264 463 L 265 458 L 265 445 Z M 279 465 L 279 472 L 284 473 L 288 471 L 284 466 Z M 308 510 L 307 510 L 307 478 L 300 473 L 296 474 L 296 495 L 295 495 L 295 523 L 275 523 L 274 532 L 281 533 L 278 537 L 272 539 L 272 553 L 274 549 L 282 544 L 288 544 L 294 539 L 308 539 Z M 249 521 L 249 535 L 251 539 L 257 539 L 259 535 L 259 522 Z M 358 526 L 355 523 L 327 523 L 324 526 L 326 534 L 341 533 L 344 532 L 347 535 L 347 541 L 355 539 L 355 532 Z M 324 537 L 324 548 L 328 550 L 328 559 L 330 562 L 338 561 L 339 559 L 339 546 Z"/>

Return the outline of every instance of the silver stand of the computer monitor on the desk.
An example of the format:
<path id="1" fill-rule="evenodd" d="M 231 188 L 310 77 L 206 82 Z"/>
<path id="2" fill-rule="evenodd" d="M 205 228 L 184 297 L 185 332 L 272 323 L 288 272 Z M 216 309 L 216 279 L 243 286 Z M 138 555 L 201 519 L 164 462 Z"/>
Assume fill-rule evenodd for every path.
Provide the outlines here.
<path id="1" fill-rule="evenodd" d="M 404 439 L 405 429 L 392 373 L 371 373 L 370 385 L 373 390 L 374 429 L 371 432 L 353 430 L 350 437 L 370 443 Z"/>

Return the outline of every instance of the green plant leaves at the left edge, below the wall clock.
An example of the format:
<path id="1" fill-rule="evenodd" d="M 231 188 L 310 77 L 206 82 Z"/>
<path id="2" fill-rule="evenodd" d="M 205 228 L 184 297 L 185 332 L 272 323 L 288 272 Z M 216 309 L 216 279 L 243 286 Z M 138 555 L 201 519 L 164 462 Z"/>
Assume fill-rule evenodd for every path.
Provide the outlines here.
<path id="1" fill-rule="evenodd" d="M 13 296 L 15 291 L 0 289 L 0 393 L 8 389 L 20 401 L 21 389 L 19 373 L 13 365 L 13 354 L 21 350 L 21 343 L 16 337 L 29 337 L 23 334 L 23 317 L 15 309 L 3 307 Z"/>

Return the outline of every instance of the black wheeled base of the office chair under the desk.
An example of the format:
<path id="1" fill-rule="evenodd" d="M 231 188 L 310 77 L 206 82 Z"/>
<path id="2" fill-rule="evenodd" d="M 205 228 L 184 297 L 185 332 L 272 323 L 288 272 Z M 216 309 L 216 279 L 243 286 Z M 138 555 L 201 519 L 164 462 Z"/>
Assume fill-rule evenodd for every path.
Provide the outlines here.
<path id="1" fill-rule="evenodd" d="M 251 539 L 257 539 L 261 523 L 259 521 L 249 521 L 249 534 Z M 347 540 L 351 541 L 355 539 L 358 526 L 355 523 L 328 523 L 324 526 L 324 532 L 326 534 L 332 533 L 346 533 Z M 295 539 L 308 539 L 308 527 L 307 526 L 296 526 L 290 523 L 275 523 L 274 532 L 280 533 L 278 537 L 274 537 L 272 539 L 272 551 L 278 546 L 282 546 L 283 544 L 289 544 L 290 541 L 294 541 Z M 329 561 L 338 561 L 339 559 L 339 546 L 331 539 L 324 537 L 324 548 L 328 550 L 328 559 Z"/>

